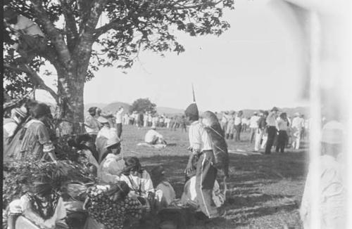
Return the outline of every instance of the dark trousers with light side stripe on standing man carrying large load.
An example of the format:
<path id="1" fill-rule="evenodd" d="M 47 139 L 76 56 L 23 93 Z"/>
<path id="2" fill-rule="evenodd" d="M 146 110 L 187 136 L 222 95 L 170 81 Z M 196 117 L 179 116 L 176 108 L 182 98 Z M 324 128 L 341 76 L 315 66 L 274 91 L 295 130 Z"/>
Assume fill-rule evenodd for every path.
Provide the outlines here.
<path id="1" fill-rule="evenodd" d="M 208 218 L 219 216 L 218 208 L 213 202 L 213 187 L 218 169 L 212 162 L 213 150 L 205 150 L 196 164 L 196 193 L 199 207 Z"/>

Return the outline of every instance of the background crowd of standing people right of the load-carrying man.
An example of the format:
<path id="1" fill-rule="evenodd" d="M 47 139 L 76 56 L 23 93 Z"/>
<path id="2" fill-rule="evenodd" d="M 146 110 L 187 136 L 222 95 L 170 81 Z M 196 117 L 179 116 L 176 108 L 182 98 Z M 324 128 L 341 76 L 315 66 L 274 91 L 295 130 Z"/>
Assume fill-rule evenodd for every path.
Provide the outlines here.
<path id="1" fill-rule="evenodd" d="M 249 142 L 254 142 L 255 152 L 265 149 L 265 153 L 270 153 L 272 145 L 276 152 L 284 152 L 289 147 L 298 150 L 309 130 L 309 120 L 303 114 L 296 112 L 294 117 L 288 117 L 277 107 L 253 112 L 250 118 L 243 117 L 241 110 L 220 112 L 218 119 L 226 139 L 241 141 L 241 133 L 250 131 Z"/>

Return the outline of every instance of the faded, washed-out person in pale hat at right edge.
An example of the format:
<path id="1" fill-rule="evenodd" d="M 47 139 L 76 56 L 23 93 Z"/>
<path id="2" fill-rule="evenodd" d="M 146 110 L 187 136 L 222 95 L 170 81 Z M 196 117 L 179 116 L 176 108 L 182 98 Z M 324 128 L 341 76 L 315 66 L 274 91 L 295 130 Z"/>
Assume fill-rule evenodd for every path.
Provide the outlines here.
<path id="1" fill-rule="evenodd" d="M 330 121 L 323 126 L 320 140 L 322 151 L 317 176 L 319 187 L 312 187 L 313 174 L 309 169 L 299 209 L 304 229 L 312 228 L 310 226 L 312 195 L 319 195 L 320 228 L 346 228 L 347 192 L 344 180 L 346 174 L 343 164 L 339 162 L 343 150 L 343 139 L 344 129 L 341 123 Z"/>

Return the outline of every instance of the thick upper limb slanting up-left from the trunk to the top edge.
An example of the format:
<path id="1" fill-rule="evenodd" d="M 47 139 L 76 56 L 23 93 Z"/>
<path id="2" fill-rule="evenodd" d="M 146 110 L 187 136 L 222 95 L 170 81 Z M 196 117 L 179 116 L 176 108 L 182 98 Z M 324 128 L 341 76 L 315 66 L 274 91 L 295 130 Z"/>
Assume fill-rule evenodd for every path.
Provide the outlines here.
<path id="1" fill-rule="evenodd" d="M 54 23 L 51 22 L 49 16 L 46 14 L 45 9 L 42 6 L 41 0 L 31 0 L 34 10 L 38 13 L 39 23 L 42 24 L 46 34 L 49 35 L 51 42 L 54 44 L 54 47 L 58 53 L 59 59 L 62 61 L 64 65 L 68 65 L 70 63 L 70 52 L 68 51 L 68 47 L 65 44 L 63 36 L 54 26 Z"/>

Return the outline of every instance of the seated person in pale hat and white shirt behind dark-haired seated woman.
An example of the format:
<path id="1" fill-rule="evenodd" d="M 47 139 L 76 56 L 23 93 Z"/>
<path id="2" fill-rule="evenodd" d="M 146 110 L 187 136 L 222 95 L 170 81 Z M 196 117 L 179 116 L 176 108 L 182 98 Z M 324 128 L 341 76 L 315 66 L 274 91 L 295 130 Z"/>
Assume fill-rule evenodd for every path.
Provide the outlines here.
<path id="1" fill-rule="evenodd" d="M 121 140 L 118 136 L 108 138 L 106 151 L 98 167 L 98 178 L 103 183 L 115 183 L 120 180 L 120 175 L 125 169 L 125 161 L 120 156 Z"/>

